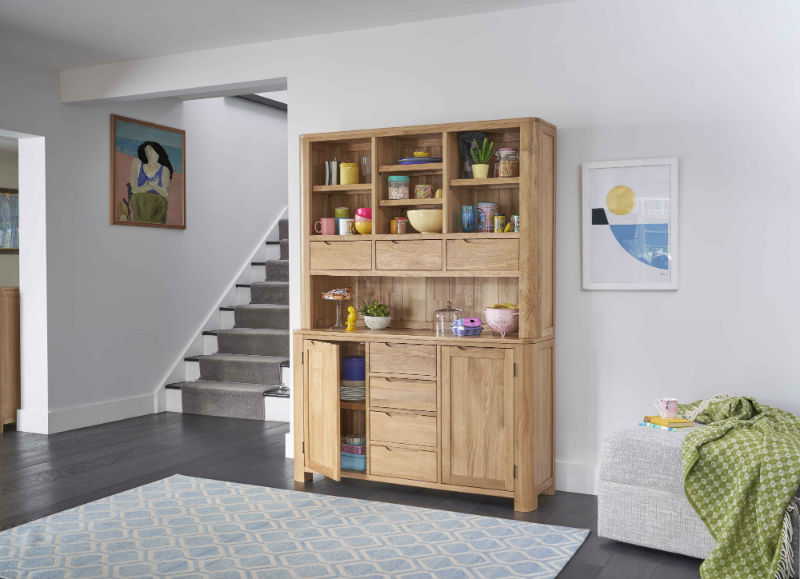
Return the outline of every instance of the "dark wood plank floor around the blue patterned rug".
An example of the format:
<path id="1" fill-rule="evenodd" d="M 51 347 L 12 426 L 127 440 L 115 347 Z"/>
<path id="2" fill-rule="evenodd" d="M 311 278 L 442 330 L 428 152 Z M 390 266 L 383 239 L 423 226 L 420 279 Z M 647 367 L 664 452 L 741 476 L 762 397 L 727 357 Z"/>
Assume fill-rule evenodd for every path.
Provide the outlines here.
<path id="1" fill-rule="evenodd" d="M 156 414 L 52 436 L 0 437 L 0 530 L 173 474 L 294 488 L 288 425 Z M 689 579 L 700 561 L 597 537 L 597 499 L 557 492 L 533 513 L 508 499 L 315 477 L 309 492 L 581 527 L 589 538 L 560 579 Z"/>

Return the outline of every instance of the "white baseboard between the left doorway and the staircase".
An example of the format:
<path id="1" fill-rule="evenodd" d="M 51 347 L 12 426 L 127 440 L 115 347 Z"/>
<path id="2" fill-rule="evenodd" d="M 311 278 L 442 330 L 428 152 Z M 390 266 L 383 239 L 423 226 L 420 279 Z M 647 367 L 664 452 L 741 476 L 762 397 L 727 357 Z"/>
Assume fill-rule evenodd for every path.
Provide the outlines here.
<path id="1" fill-rule="evenodd" d="M 55 434 L 66 430 L 153 414 L 157 404 L 153 394 L 143 394 L 141 396 L 50 411 L 20 410 L 17 414 L 17 430 L 38 434 Z"/>

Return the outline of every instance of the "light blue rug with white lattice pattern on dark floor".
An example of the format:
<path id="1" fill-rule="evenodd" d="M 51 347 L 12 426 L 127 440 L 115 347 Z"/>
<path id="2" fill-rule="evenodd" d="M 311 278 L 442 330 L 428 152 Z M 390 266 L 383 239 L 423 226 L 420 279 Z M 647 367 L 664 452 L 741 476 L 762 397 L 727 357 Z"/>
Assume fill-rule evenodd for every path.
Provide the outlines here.
<path id="1" fill-rule="evenodd" d="M 555 577 L 588 534 L 176 475 L 0 533 L 0 577 Z"/>

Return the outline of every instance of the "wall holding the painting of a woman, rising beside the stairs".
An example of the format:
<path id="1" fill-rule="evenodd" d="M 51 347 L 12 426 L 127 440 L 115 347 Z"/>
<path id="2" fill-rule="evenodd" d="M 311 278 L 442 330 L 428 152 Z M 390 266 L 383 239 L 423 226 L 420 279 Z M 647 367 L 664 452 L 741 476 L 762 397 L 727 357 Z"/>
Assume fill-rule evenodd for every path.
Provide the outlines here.
<path id="1" fill-rule="evenodd" d="M 50 71 L 0 72 L 0 128 L 47 141 L 49 402 L 25 410 L 51 431 L 152 412 L 286 203 L 286 115 L 235 98 L 68 105 Z M 185 231 L 109 225 L 110 113 L 187 131 Z"/>

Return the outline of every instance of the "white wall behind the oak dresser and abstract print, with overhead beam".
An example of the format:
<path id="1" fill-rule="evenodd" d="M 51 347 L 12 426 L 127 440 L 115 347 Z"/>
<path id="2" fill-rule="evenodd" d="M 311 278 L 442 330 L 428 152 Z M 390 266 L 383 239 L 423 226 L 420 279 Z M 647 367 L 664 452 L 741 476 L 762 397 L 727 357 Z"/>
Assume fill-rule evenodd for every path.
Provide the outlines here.
<path id="1" fill-rule="evenodd" d="M 792 0 L 578 1 L 67 71 L 61 88 L 79 101 L 288 77 L 295 327 L 299 134 L 558 125 L 556 484 L 591 491 L 600 438 L 657 396 L 800 412 L 798 23 Z M 580 163 L 655 156 L 680 158 L 680 289 L 582 291 Z"/>

